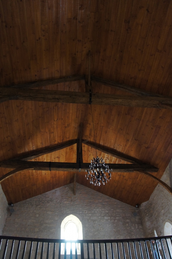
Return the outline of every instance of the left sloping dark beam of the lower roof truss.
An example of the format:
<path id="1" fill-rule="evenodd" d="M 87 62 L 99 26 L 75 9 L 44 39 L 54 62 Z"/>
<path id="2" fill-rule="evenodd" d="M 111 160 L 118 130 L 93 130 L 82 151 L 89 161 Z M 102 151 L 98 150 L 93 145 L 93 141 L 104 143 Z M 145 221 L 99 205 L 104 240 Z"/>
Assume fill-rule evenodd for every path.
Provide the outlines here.
<path id="1" fill-rule="evenodd" d="M 13 160 L 28 161 L 28 160 L 34 159 L 36 157 L 46 155 L 46 154 L 55 152 L 57 150 L 60 150 L 60 149 L 66 148 L 66 147 L 70 147 L 70 146 L 72 146 L 76 143 L 77 143 L 77 139 L 69 140 L 69 141 L 66 141 L 66 142 L 63 142 L 63 143 L 59 143 L 59 144 L 57 144 L 53 147 L 47 147 L 47 148 L 44 148 L 44 149 L 41 149 L 41 150 L 36 150 L 36 151 L 33 150 L 32 152 L 29 152 L 29 154 L 21 155 L 19 157 L 14 158 Z"/>

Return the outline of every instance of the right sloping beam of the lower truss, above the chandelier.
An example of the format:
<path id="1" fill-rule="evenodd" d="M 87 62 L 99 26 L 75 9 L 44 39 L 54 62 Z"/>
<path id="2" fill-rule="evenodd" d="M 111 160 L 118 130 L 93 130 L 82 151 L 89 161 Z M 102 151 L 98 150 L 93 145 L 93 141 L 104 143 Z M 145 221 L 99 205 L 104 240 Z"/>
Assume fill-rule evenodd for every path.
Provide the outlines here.
<path id="1" fill-rule="evenodd" d="M 108 147 L 104 147 L 104 146 L 101 146 L 99 144 L 96 144 L 95 146 L 95 143 L 93 142 L 89 142 L 89 141 L 85 141 L 85 140 L 82 140 L 82 142 L 89 146 L 89 147 L 92 147 L 92 148 L 96 148 L 97 150 L 107 154 L 107 155 L 110 155 L 110 156 L 113 156 L 113 157 L 116 157 L 120 160 L 123 160 L 123 161 L 126 161 L 126 162 L 129 162 L 129 163 L 132 163 L 132 164 L 141 164 L 143 163 L 142 161 L 132 157 L 132 156 L 128 156 L 128 155 L 125 155 L 123 153 L 120 153 L 120 152 L 117 152 L 116 150 L 114 149 L 111 149 L 111 148 L 108 148 Z"/>

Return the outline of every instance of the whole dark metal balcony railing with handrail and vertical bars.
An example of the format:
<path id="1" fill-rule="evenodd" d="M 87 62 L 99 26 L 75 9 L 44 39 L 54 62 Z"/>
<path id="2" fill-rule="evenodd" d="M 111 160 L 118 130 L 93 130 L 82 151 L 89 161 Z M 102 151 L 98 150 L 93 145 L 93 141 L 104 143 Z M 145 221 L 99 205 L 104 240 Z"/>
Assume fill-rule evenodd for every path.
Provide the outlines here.
<path id="1" fill-rule="evenodd" d="M 63 240 L 0 236 L 2 259 L 172 259 L 172 236 Z"/>

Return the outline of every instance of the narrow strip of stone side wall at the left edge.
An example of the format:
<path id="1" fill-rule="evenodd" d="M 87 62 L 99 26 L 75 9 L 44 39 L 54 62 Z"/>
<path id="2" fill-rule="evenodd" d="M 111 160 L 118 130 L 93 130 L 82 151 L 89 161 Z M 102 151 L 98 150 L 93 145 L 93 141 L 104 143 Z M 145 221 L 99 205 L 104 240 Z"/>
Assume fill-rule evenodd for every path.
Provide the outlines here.
<path id="1" fill-rule="evenodd" d="M 3 227 L 8 213 L 8 202 L 0 184 L 0 235 L 2 235 Z"/>

